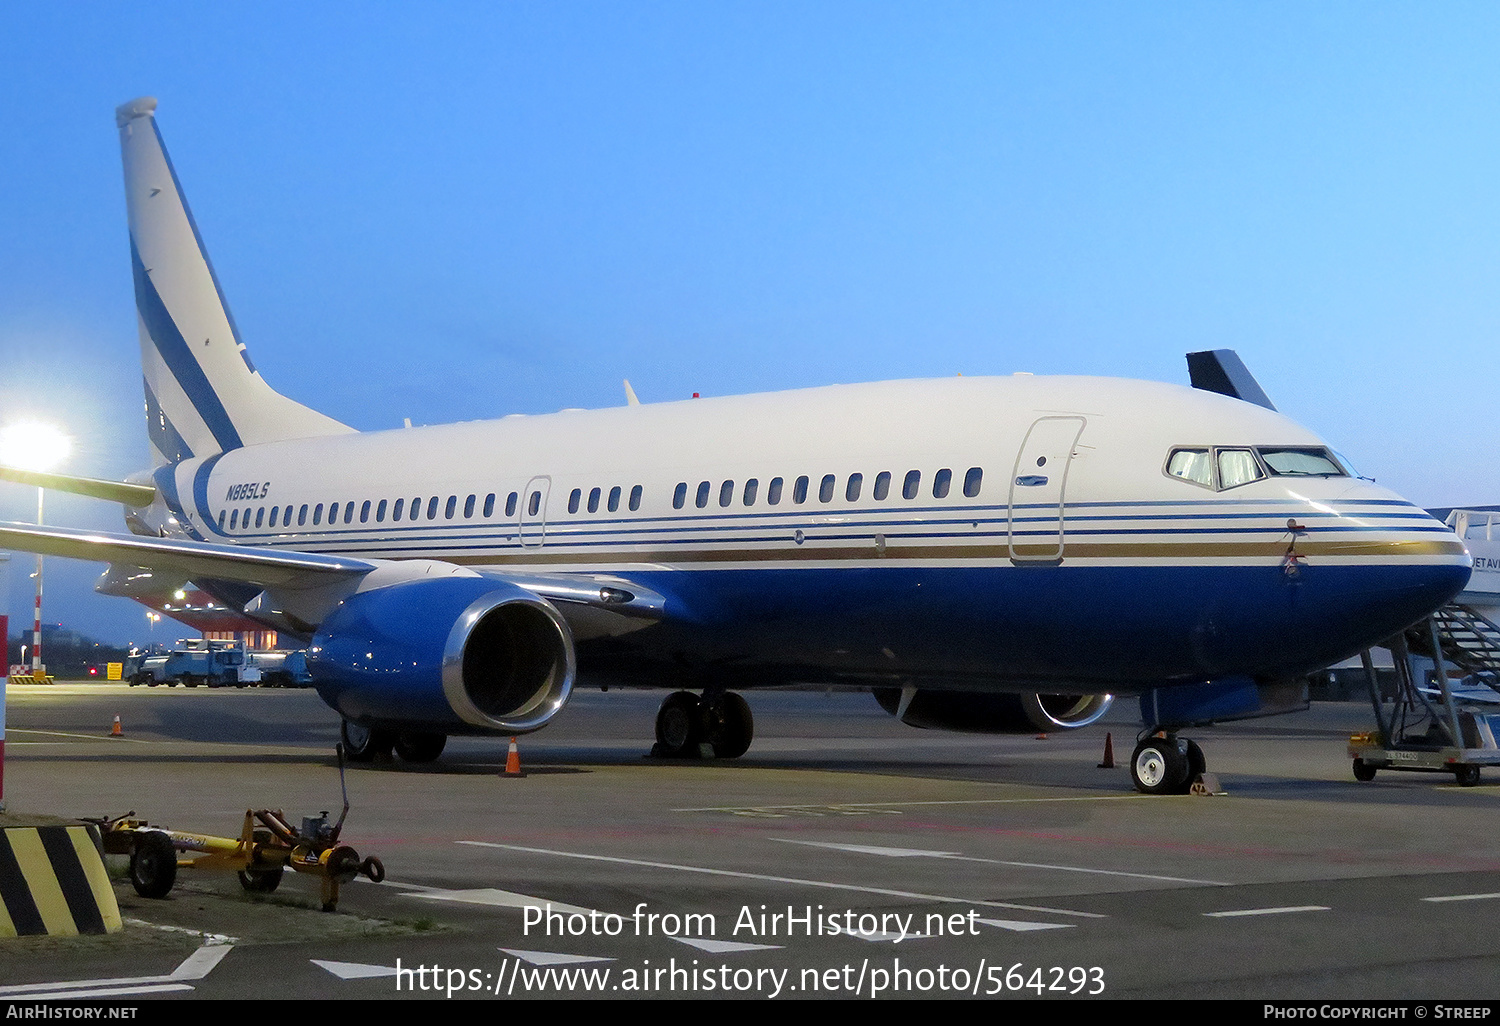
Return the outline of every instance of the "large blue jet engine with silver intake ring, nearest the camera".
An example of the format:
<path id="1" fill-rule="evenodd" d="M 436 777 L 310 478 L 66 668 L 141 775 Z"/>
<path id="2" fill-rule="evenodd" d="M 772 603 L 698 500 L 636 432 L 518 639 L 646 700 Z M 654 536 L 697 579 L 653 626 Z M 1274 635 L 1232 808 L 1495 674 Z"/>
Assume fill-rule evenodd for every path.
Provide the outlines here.
<path id="1" fill-rule="evenodd" d="M 543 598 L 482 576 L 360 591 L 308 650 L 322 700 L 363 726 L 525 734 L 567 702 L 573 636 Z"/>

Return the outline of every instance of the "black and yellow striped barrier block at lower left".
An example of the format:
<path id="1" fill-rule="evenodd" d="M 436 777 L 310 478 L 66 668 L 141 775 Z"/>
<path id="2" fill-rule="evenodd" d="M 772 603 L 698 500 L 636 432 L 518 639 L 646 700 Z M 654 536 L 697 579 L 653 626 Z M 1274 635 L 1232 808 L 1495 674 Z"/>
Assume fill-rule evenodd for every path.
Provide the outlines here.
<path id="1" fill-rule="evenodd" d="M 0 938 L 118 928 L 120 906 L 94 826 L 56 820 L 0 826 Z"/>

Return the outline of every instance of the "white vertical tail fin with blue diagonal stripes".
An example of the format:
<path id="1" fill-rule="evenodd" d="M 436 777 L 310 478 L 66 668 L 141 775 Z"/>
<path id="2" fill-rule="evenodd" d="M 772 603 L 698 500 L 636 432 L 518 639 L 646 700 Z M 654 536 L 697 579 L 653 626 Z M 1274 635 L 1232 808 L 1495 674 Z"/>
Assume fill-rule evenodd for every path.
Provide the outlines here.
<path id="1" fill-rule="evenodd" d="M 280 394 L 250 363 L 154 112 L 148 96 L 116 108 L 156 465 L 352 430 Z"/>

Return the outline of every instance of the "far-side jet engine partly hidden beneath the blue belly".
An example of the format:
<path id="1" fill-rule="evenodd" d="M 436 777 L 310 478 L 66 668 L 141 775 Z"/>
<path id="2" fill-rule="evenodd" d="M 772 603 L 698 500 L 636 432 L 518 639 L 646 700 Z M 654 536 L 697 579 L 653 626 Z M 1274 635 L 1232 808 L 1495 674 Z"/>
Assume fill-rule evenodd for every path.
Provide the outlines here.
<path id="1" fill-rule="evenodd" d="M 902 723 L 966 734 L 1072 730 L 1104 716 L 1113 694 L 994 694 L 920 688 L 902 710 L 903 692 L 874 688 L 874 700 Z"/>

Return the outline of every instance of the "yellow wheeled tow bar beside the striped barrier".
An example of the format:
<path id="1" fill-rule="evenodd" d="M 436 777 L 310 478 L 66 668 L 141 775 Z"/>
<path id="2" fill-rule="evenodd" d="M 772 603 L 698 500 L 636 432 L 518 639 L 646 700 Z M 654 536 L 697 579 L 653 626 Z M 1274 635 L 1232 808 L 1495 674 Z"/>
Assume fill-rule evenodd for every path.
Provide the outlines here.
<path id="1" fill-rule="evenodd" d="M 344 819 L 350 814 L 350 790 L 344 783 L 344 746 L 339 756 L 339 786 L 344 790 L 344 812 L 339 822 L 328 825 L 328 813 L 303 816 L 294 830 L 276 808 L 246 808 L 240 836 L 212 837 L 153 826 L 135 819 L 135 812 L 123 816 L 92 819 L 99 825 L 104 850 L 130 856 L 130 884 L 141 897 L 166 897 L 177 882 L 177 870 L 234 870 L 240 886 L 256 894 L 270 894 L 280 885 L 282 872 L 310 873 L 322 882 L 322 910 L 339 904 L 339 885 L 356 876 L 380 884 L 386 867 L 374 855 L 360 854 L 339 843 Z"/>

